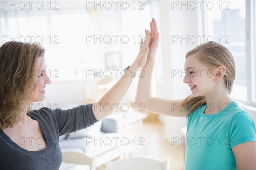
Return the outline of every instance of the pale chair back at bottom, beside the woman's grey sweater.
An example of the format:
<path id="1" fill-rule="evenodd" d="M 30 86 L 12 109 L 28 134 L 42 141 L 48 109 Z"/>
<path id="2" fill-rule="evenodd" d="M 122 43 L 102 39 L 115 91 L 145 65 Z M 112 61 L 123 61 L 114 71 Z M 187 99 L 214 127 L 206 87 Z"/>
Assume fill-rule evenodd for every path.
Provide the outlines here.
<path id="1" fill-rule="evenodd" d="M 84 153 L 80 153 L 80 152 L 62 152 L 62 162 L 68 163 L 68 164 L 73 164 L 71 167 L 68 167 L 67 169 L 76 169 L 76 164 L 77 165 L 88 165 L 88 166 L 90 166 L 90 168 L 88 170 L 95 170 L 95 168 L 96 168 L 95 167 L 96 158 L 95 157 L 91 158 L 91 157 L 85 155 Z M 64 169 L 66 169 L 66 168 L 64 168 Z M 85 169 L 85 168 L 83 168 L 83 169 Z"/>

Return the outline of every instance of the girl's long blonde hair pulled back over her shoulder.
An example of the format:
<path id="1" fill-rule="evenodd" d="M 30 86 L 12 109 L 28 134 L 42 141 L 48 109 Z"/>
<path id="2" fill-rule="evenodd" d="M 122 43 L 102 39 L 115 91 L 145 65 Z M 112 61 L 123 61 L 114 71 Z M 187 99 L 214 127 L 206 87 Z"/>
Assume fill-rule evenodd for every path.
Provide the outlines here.
<path id="1" fill-rule="evenodd" d="M 226 68 L 224 78 L 230 94 L 236 77 L 236 66 L 231 52 L 223 45 L 209 41 L 207 43 L 202 43 L 201 45 L 196 46 L 194 49 L 187 52 L 186 58 L 196 52 L 199 53 L 198 59 L 206 64 L 209 68 L 213 69 L 221 65 Z M 203 104 L 206 104 L 206 98 L 204 96 L 193 97 L 190 95 L 183 101 L 183 106 L 185 106 L 187 110 L 187 116 L 189 116 Z"/>

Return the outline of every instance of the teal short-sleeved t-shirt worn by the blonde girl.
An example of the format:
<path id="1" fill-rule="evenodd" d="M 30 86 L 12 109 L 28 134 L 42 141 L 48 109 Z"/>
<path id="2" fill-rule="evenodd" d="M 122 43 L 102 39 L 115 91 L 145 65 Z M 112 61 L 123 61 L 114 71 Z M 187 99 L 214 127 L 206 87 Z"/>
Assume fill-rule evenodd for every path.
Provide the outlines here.
<path id="1" fill-rule="evenodd" d="M 185 170 L 236 170 L 232 147 L 256 141 L 255 123 L 235 101 L 213 115 L 206 106 L 188 116 Z"/>

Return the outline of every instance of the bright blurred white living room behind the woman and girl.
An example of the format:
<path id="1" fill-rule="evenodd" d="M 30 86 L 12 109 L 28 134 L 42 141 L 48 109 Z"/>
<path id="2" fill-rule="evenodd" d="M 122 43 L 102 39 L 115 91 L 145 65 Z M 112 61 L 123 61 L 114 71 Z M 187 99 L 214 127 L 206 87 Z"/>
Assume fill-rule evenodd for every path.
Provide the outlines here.
<path id="1" fill-rule="evenodd" d="M 40 43 L 46 49 L 44 58 L 51 84 L 47 85 L 45 100 L 32 104 L 33 109 L 68 109 L 98 101 L 137 57 L 140 39 L 144 39 L 145 29 L 150 30 L 154 17 L 160 42 L 152 95 L 167 99 L 190 95 L 183 83 L 186 52 L 213 40 L 233 53 L 236 80 L 231 96 L 256 121 L 254 0 L 1 0 L 0 5 L 0 46 L 16 40 Z M 60 139 L 61 149 L 96 157 L 97 169 L 104 169 L 105 161 L 133 156 L 169 158 L 170 169 L 183 169 L 186 118 L 146 112 L 143 104 L 136 108 L 139 76 L 143 77 L 143 70 L 138 71 L 125 97 L 116 104 L 116 112 L 87 131 Z M 98 145 L 104 145 L 104 141 L 81 141 L 88 136 L 104 136 L 112 141 L 125 137 L 129 144 L 117 141 L 120 147 L 112 152 L 116 147 L 111 147 L 113 144 L 102 148 Z M 85 150 L 71 146 L 77 142 L 86 145 L 81 147 Z M 99 150 L 98 155 L 95 150 Z"/>

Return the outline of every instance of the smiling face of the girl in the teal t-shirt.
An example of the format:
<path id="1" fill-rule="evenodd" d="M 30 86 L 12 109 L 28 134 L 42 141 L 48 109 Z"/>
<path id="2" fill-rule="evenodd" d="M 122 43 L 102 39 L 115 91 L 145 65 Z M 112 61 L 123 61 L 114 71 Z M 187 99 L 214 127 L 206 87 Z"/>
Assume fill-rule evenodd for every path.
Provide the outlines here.
<path id="1" fill-rule="evenodd" d="M 198 59 L 198 53 L 186 58 L 184 70 L 186 71 L 184 83 L 189 85 L 192 96 L 206 96 L 214 92 L 215 70 L 209 69 Z"/>

